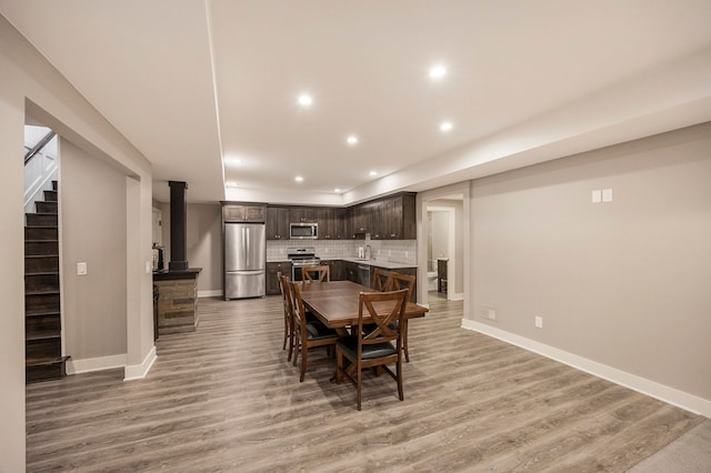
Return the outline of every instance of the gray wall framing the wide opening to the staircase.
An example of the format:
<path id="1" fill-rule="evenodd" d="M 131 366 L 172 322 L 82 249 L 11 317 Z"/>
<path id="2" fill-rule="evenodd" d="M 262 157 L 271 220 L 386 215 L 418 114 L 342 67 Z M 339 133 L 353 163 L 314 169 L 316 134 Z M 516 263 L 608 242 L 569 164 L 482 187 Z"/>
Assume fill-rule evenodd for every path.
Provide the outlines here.
<path id="1" fill-rule="evenodd" d="M 24 261 L 21 150 L 26 117 L 51 127 L 124 177 L 127 375 L 153 349 L 151 165 L 0 16 L 0 471 L 24 471 Z M 101 233 L 101 231 L 97 231 Z M 76 271 L 74 271 L 76 273 Z M 63 294 L 66 298 L 68 294 Z M 90 294 L 103 299 L 103 294 Z"/>

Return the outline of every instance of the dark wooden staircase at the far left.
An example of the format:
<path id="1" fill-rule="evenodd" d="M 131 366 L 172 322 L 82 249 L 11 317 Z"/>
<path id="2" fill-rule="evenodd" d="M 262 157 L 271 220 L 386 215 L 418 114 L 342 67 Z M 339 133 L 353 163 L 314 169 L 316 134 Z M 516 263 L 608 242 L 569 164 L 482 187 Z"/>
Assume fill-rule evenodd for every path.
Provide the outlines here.
<path id="1" fill-rule="evenodd" d="M 34 203 L 24 225 L 24 362 L 26 382 L 67 375 L 62 356 L 59 303 L 59 225 L 57 181 Z"/>

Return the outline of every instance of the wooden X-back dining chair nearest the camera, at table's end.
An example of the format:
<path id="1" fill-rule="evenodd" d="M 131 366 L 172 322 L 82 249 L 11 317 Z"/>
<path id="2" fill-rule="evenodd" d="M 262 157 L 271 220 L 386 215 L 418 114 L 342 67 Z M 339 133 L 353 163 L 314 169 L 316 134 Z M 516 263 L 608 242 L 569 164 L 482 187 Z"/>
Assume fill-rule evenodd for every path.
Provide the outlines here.
<path id="1" fill-rule="evenodd" d="M 343 378 L 356 384 L 358 392 L 358 410 L 361 410 L 362 371 L 367 368 L 381 366 L 398 382 L 400 401 L 404 400 L 402 390 L 402 336 L 408 290 L 387 292 L 361 292 L 358 310 L 358 330 L 353 334 L 338 340 L 336 343 L 336 382 Z M 391 302 L 382 304 L 383 302 Z M 368 324 L 363 319 L 370 319 Z M 372 321 L 372 322 L 371 322 Z M 398 323 L 394 323 L 394 322 Z M 394 342 L 394 345 L 393 345 Z M 349 364 L 344 362 L 348 360 Z M 395 372 L 388 366 L 395 363 Z M 354 376 L 349 371 L 354 369 Z"/>

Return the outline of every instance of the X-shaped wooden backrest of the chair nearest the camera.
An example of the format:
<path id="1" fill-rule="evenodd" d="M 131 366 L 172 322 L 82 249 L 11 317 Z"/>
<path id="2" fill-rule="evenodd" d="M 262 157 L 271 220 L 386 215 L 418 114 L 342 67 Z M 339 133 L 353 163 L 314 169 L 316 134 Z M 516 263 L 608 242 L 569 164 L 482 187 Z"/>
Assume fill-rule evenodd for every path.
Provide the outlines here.
<path id="1" fill-rule="evenodd" d="M 358 310 L 359 353 L 361 345 L 374 343 L 397 341 L 398 348 L 400 348 L 400 328 L 408 299 L 409 291 L 407 289 L 360 293 Z M 364 316 L 370 316 L 372 322 L 363 325 Z"/>

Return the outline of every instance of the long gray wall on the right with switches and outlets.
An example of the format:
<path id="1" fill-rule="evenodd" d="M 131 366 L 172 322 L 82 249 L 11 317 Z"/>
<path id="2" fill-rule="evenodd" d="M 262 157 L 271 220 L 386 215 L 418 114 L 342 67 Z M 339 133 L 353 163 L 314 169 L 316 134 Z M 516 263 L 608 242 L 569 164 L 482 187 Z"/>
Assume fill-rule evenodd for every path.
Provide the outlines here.
<path id="1" fill-rule="evenodd" d="M 711 124 L 473 181 L 471 222 L 471 319 L 711 400 Z"/>

